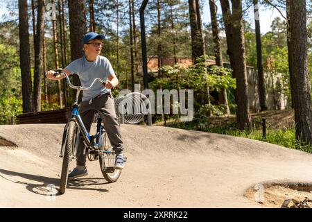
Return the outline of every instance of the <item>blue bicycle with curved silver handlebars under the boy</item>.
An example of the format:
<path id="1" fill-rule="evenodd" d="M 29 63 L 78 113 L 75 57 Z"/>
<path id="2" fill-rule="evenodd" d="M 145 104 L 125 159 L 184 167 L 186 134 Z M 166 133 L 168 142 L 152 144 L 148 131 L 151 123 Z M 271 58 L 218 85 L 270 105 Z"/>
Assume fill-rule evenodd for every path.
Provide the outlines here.
<path id="1" fill-rule="evenodd" d="M 101 78 L 95 78 L 89 87 L 74 86 L 71 85 L 69 76 L 66 73 L 63 73 L 62 69 L 55 71 L 54 76 L 58 74 L 64 75 L 66 77 L 69 87 L 72 89 L 77 89 L 76 99 L 73 103 L 73 110 L 71 112 L 71 119 L 65 125 L 62 136 L 60 157 L 63 157 L 63 162 L 62 173 L 60 177 L 60 193 L 65 193 L 68 182 L 69 165 L 71 160 L 76 157 L 80 133 L 83 135 L 83 143 L 86 146 L 88 160 L 99 160 L 101 172 L 105 180 L 107 180 L 107 182 L 116 182 L 121 174 L 121 170 L 114 169 L 115 153 L 112 150 L 112 146 L 109 146 L 108 144 L 104 123 L 99 115 L 98 110 L 96 110 L 96 115 L 98 117 L 96 120 L 97 125 L 95 135 L 89 135 L 78 112 L 78 98 L 80 91 L 91 89 L 96 80 L 98 80 L 100 83 L 104 83 L 104 81 L 101 80 Z M 124 157 L 124 159 L 126 158 Z"/>

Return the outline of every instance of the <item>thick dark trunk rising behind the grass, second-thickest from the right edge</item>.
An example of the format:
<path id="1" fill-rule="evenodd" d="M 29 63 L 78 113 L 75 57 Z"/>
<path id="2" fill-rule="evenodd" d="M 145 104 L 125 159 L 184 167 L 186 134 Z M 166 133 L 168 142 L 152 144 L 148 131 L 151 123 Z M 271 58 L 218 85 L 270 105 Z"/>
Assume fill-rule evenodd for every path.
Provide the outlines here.
<path id="1" fill-rule="evenodd" d="M 220 0 L 220 3 L 227 37 L 227 54 L 233 69 L 232 74 L 236 78 L 236 120 L 239 130 L 247 129 L 251 131 L 252 124 L 248 107 L 248 83 L 241 0 L 232 0 L 232 13 L 229 9 L 228 0 Z"/>

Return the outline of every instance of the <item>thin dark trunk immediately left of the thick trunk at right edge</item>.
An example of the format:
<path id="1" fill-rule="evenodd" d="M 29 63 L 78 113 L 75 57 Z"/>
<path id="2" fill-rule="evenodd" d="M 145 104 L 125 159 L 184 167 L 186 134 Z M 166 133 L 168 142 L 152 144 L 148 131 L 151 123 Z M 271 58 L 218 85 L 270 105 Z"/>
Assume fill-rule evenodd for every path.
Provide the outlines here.
<path id="1" fill-rule="evenodd" d="M 293 79 L 293 62 L 291 61 L 291 26 L 290 26 L 290 7 L 291 7 L 291 0 L 286 0 L 286 17 L 287 17 L 287 49 L 288 49 L 288 70 L 289 70 L 289 78 Z M 291 87 L 291 108 L 294 108 L 293 105 L 293 81 L 290 81 L 290 87 Z"/>

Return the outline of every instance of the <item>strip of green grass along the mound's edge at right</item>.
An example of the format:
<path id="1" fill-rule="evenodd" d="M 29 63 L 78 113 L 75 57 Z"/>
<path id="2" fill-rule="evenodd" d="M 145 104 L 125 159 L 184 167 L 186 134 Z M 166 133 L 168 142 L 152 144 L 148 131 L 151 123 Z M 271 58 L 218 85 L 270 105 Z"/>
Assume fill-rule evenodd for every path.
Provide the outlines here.
<path id="1" fill-rule="evenodd" d="M 273 128 L 268 124 L 266 129 L 266 138 L 262 136 L 262 128 L 259 121 L 253 122 L 253 129 L 251 133 L 248 131 L 238 130 L 236 123 L 222 123 L 218 126 L 212 127 L 202 127 L 198 126 L 196 123 L 171 123 L 166 126 L 173 128 L 183 128 L 187 130 L 200 130 L 207 133 L 219 133 L 223 135 L 232 135 L 235 137 L 245 137 L 249 139 L 257 139 L 263 142 L 268 142 L 270 144 L 277 144 L 279 146 L 285 146 L 288 148 L 297 149 L 300 151 L 305 151 L 312 153 L 312 146 L 304 146 L 299 141 L 295 139 L 295 126 L 288 128 Z"/>

